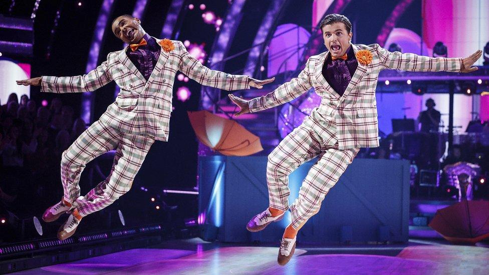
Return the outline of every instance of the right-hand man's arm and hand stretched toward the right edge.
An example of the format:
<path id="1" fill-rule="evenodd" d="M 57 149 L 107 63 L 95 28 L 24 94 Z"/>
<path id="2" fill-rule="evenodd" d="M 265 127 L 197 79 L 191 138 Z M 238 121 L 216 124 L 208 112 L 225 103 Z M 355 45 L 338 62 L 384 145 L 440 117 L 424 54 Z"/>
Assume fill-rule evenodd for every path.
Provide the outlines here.
<path id="1" fill-rule="evenodd" d="M 469 73 L 477 70 L 471 67 L 482 55 L 482 51 L 477 51 L 466 58 L 442 58 L 418 56 L 415 54 L 402 54 L 400 52 L 389 52 L 378 44 L 372 46 L 377 52 L 380 63 L 384 69 L 394 69 L 412 72 L 461 72 Z"/>

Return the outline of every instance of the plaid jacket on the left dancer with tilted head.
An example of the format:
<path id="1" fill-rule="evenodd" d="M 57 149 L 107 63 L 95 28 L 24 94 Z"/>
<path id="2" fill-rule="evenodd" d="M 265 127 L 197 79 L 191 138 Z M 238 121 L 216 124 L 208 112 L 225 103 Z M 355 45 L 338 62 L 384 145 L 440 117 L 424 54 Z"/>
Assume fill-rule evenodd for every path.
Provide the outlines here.
<path id="1" fill-rule="evenodd" d="M 159 45 L 159 40 L 156 39 Z M 193 58 L 180 41 L 175 49 L 161 49 L 146 81 L 126 55 L 126 49 L 109 53 L 107 61 L 83 76 L 43 76 L 41 91 L 81 93 L 97 90 L 112 80 L 120 87 L 114 103 L 100 120 L 121 132 L 167 141 L 172 111 L 173 81 L 177 71 L 206 86 L 223 90 L 249 89 L 249 77 L 213 71 Z"/>

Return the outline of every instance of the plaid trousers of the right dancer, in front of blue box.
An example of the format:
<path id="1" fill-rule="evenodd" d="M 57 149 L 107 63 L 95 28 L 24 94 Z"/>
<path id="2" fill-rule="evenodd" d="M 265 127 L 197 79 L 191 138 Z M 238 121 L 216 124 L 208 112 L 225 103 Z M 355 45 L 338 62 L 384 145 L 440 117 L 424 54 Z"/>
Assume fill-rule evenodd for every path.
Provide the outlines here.
<path id="1" fill-rule="evenodd" d="M 270 207 L 289 208 L 289 174 L 304 162 L 319 156 L 302 183 L 299 197 L 290 206 L 292 226 L 298 228 L 319 211 L 325 195 L 359 150 L 338 149 L 335 119 L 312 114 L 269 155 L 267 184 Z"/>

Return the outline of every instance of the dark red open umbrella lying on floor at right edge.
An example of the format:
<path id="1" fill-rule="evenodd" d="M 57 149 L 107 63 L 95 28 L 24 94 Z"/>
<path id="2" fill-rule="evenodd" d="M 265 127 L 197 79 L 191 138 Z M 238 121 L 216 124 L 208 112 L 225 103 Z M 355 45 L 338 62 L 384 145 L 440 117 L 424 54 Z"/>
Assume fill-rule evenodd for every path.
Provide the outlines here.
<path id="1" fill-rule="evenodd" d="M 462 200 L 438 209 L 429 227 L 453 243 L 476 243 L 489 237 L 489 201 Z"/>

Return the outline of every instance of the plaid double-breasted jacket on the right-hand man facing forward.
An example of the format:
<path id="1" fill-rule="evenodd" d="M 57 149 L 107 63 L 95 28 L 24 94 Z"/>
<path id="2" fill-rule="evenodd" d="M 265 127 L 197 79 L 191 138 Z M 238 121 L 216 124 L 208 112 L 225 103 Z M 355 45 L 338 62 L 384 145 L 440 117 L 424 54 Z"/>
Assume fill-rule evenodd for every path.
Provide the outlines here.
<path id="1" fill-rule="evenodd" d="M 359 50 L 370 51 L 372 62 L 368 65 L 358 63 L 358 68 L 341 97 L 323 77 L 323 65 L 329 55 L 329 52 L 325 52 L 310 57 L 297 78 L 265 96 L 250 100 L 250 112 L 284 104 L 314 88 L 321 96 L 321 104 L 313 112 L 318 112 L 323 118 L 335 120 L 338 149 L 377 147 L 379 140 L 375 89 L 380 71 L 395 69 L 413 72 L 459 72 L 462 63 L 461 58 L 430 58 L 391 53 L 378 44 L 358 44 L 352 47 L 355 53 Z"/>

